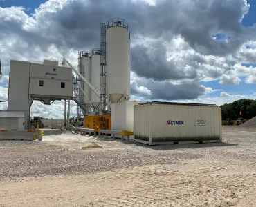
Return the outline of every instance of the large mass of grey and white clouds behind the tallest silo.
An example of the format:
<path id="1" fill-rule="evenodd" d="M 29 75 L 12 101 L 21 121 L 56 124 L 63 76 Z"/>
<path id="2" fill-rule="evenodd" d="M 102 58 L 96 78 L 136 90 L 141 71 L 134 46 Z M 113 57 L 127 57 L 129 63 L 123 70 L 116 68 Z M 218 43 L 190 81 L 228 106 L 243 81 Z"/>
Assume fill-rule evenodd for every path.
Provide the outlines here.
<path id="1" fill-rule="evenodd" d="M 205 81 L 253 83 L 255 72 L 241 66 L 256 62 L 255 29 L 241 25 L 249 7 L 244 0 L 49 0 L 29 16 L 28 8 L 0 7 L 0 81 L 8 84 L 10 59 L 65 56 L 75 65 L 77 50 L 100 47 L 100 23 L 121 17 L 131 32 L 133 95 L 197 99 L 215 91 Z"/>

